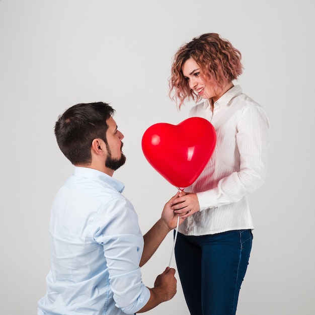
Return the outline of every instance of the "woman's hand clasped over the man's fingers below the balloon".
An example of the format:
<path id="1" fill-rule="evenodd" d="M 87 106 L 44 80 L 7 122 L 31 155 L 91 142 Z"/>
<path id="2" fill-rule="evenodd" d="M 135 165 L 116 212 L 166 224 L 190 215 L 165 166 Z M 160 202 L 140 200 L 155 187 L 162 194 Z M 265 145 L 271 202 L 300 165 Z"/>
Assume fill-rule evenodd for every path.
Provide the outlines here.
<path id="1" fill-rule="evenodd" d="M 187 218 L 200 210 L 197 194 L 180 192 L 171 200 L 172 209 L 181 218 Z"/>

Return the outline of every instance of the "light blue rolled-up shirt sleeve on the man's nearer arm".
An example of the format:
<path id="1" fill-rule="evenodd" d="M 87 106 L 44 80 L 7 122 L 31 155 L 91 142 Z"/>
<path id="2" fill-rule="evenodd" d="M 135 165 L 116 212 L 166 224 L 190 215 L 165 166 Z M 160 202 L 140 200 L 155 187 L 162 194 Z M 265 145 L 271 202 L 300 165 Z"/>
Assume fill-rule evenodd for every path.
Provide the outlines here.
<path id="1" fill-rule="evenodd" d="M 131 314 L 141 309 L 150 297 L 139 267 L 143 237 L 137 214 L 127 199 L 116 198 L 109 208 L 98 218 L 107 224 L 97 230 L 94 239 L 103 245 L 116 306 Z"/>

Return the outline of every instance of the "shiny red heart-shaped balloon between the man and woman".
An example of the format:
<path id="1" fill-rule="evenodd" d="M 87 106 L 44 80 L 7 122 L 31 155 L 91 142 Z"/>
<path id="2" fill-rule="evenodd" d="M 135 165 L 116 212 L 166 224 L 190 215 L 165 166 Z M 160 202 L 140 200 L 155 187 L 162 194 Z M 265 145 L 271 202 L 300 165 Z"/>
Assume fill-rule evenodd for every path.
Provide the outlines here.
<path id="1" fill-rule="evenodd" d="M 216 144 L 213 125 L 201 117 L 178 125 L 157 123 L 142 136 L 142 151 L 149 164 L 172 185 L 190 186 L 208 163 Z"/>

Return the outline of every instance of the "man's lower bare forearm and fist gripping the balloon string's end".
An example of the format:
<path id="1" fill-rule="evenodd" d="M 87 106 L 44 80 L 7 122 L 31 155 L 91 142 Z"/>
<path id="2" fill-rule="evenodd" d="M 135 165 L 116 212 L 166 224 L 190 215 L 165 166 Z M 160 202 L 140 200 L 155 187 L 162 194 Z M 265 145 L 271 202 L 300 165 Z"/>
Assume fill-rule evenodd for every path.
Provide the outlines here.
<path id="1" fill-rule="evenodd" d="M 156 277 L 154 287 L 149 289 L 151 294 L 148 302 L 137 313 L 148 311 L 174 297 L 177 290 L 177 280 L 174 275 L 175 269 L 167 267 L 161 275 Z"/>

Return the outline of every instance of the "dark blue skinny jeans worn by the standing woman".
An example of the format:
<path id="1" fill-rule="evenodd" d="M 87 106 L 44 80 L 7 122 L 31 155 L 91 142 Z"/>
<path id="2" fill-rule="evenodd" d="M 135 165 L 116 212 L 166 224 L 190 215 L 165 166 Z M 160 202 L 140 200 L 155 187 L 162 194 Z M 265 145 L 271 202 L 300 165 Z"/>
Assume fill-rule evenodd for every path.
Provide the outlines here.
<path id="1" fill-rule="evenodd" d="M 191 315 L 235 314 L 252 242 L 250 229 L 202 236 L 178 233 L 176 264 Z"/>

